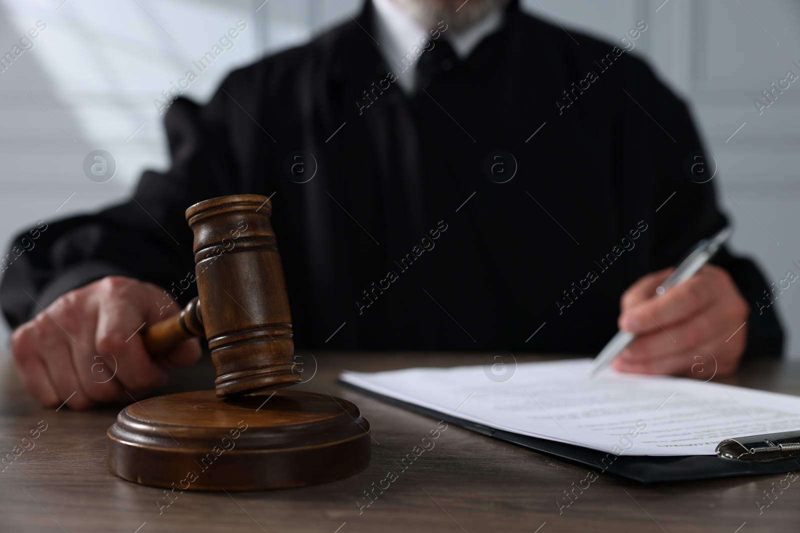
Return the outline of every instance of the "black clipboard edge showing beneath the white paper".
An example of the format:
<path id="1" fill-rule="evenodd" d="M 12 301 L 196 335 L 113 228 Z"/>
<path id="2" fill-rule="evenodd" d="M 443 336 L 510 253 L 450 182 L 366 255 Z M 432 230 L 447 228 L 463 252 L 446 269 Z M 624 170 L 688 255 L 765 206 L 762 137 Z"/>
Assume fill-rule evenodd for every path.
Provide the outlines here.
<path id="1" fill-rule="evenodd" d="M 423 408 L 390 396 L 384 396 L 346 381 L 338 380 L 338 384 L 366 396 L 382 400 L 386 404 L 396 405 L 422 416 L 429 416 L 434 420 L 444 420 L 447 424 L 453 424 L 459 428 L 468 429 L 494 439 L 505 440 L 511 444 L 552 455 L 570 463 L 578 463 L 589 467 L 590 470 L 598 474 L 610 472 L 611 474 L 642 483 L 714 479 L 739 475 L 781 474 L 800 469 L 800 457 L 771 461 L 748 461 L 723 459 L 717 455 L 614 455 L 605 451 L 575 446 L 574 444 L 538 439 L 537 437 L 489 428 L 469 420 L 444 415 L 441 412 L 434 411 L 434 409 Z"/>

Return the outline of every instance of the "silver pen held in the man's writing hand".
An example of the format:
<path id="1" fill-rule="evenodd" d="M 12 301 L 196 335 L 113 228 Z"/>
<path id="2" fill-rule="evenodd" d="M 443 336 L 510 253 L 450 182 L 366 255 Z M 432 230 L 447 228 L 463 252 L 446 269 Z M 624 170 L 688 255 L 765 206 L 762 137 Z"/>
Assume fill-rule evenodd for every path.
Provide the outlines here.
<path id="1" fill-rule="evenodd" d="M 714 237 L 710 237 L 708 239 L 703 239 L 702 241 L 698 242 L 698 244 L 694 247 L 694 250 L 686 256 L 678 268 L 675 268 L 674 272 L 670 274 L 666 280 L 662 284 L 655 289 L 656 294 L 661 296 L 666 289 L 673 287 L 674 285 L 683 283 L 684 281 L 688 280 L 691 276 L 694 276 L 696 272 L 702 265 L 705 265 L 711 257 L 714 257 L 714 254 L 717 253 L 718 249 L 722 244 L 730 237 L 730 228 L 724 228 L 720 230 L 719 233 L 714 235 Z M 636 338 L 634 333 L 630 332 L 617 332 L 611 340 L 608 341 L 605 347 L 602 348 L 600 353 L 598 353 L 597 357 L 594 358 L 592 361 L 589 370 L 586 371 L 586 377 L 591 378 L 595 374 L 597 374 L 602 368 L 606 368 L 606 366 L 614 359 L 614 357 L 618 356 L 625 347 L 630 344 L 632 340 Z"/>

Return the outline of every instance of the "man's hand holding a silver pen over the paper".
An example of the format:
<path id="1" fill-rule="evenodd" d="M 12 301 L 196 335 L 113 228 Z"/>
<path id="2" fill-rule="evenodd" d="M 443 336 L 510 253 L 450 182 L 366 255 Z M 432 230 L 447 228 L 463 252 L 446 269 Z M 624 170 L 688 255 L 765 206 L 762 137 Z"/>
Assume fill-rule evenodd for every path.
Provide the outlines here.
<path id="1" fill-rule="evenodd" d="M 655 289 L 672 271 L 643 276 L 622 294 L 619 328 L 637 337 L 611 366 L 621 372 L 702 380 L 734 372 L 747 340 L 747 325 L 742 324 L 749 308 L 730 274 L 704 265 L 657 296 Z"/>

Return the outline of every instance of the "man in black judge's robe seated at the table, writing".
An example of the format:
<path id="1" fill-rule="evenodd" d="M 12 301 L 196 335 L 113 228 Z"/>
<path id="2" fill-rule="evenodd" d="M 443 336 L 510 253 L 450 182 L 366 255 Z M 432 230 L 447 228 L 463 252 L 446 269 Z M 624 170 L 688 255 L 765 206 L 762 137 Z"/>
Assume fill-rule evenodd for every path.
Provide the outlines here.
<path id="1" fill-rule="evenodd" d="M 727 222 L 686 105 L 630 53 L 647 26 L 601 42 L 517 2 L 371 0 L 208 104 L 178 97 L 171 169 L 50 222 L 6 270 L 26 388 L 86 408 L 197 360 L 196 340 L 152 359 L 140 328 L 196 294 L 184 210 L 233 193 L 271 198 L 298 348 L 594 354 L 619 327 L 638 334 L 623 372 L 778 355 L 746 259 L 723 249 L 655 296 Z"/>

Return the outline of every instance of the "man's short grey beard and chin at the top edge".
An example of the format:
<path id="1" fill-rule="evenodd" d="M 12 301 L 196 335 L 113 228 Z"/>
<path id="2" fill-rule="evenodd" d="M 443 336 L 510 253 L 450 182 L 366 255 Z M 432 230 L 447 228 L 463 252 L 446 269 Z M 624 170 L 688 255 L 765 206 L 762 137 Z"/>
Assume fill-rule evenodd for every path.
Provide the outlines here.
<path id="1" fill-rule="evenodd" d="M 423 26 L 434 28 L 440 21 L 455 31 L 472 26 L 510 0 L 393 0 Z"/>

